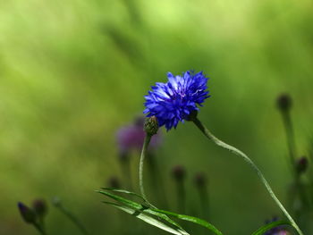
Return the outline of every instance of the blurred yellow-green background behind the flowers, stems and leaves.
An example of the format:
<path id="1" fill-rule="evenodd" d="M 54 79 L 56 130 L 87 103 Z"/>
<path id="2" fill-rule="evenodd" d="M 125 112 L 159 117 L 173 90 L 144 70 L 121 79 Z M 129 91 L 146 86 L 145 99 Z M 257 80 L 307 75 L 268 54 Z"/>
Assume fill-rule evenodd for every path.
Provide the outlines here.
<path id="1" fill-rule="evenodd" d="M 292 173 L 275 99 L 291 95 L 297 155 L 308 155 L 312 10 L 309 0 L 1 1 L 0 234 L 35 234 L 16 203 L 54 196 L 91 234 L 165 234 L 101 204 L 94 190 L 123 178 L 116 130 L 142 113 L 143 96 L 167 71 L 210 77 L 212 97 L 199 118 L 250 155 L 285 203 Z M 192 123 L 161 131 L 165 209 L 177 211 L 170 172 L 182 164 L 188 213 L 200 215 L 192 177 L 206 172 L 209 220 L 224 234 L 249 234 L 280 215 L 256 173 Z M 135 186 L 138 161 L 132 153 Z M 79 233 L 53 206 L 47 230 Z"/>

